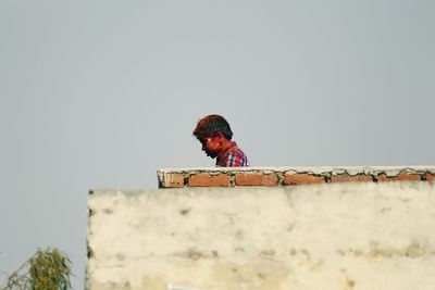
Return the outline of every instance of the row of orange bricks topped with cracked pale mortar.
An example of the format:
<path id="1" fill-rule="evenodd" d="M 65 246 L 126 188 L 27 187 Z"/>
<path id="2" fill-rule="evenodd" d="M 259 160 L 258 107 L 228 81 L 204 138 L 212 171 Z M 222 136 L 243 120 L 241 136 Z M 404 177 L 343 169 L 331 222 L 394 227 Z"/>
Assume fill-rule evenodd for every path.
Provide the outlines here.
<path id="1" fill-rule="evenodd" d="M 163 168 L 160 188 L 296 186 L 330 182 L 434 181 L 435 166 Z"/>

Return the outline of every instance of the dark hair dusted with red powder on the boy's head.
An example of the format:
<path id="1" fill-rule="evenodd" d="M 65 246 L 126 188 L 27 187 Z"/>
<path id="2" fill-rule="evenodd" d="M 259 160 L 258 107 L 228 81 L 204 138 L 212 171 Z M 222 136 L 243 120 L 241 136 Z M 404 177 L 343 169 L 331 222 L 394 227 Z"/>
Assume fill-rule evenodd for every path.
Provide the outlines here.
<path id="1" fill-rule="evenodd" d="M 233 137 L 229 124 L 223 116 L 208 115 L 198 121 L 194 136 L 201 141 L 204 138 L 216 136 L 217 133 L 221 133 L 228 140 Z"/>

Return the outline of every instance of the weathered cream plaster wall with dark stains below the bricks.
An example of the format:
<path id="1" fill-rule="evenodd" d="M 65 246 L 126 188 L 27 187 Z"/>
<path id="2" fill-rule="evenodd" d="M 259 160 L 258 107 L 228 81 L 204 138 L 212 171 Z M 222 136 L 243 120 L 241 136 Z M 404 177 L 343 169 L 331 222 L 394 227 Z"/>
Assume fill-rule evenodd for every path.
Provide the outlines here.
<path id="1" fill-rule="evenodd" d="M 88 206 L 90 290 L 435 286 L 434 182 L 95 190 Z"/>

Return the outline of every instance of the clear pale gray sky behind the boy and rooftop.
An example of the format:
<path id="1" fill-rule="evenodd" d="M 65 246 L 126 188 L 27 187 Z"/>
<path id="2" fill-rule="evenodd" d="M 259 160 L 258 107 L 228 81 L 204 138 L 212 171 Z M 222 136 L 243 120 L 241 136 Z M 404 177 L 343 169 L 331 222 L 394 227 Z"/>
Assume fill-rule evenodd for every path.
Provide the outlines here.
<path id="1" fill-rule="evenodd" d="M 435 1 L 0 1 L 0 272 L 57 247 L 84 288 L 91 188 L 213 166 L 435 163 Z M 2 276 L 0 276 L 3 278 Z"/>

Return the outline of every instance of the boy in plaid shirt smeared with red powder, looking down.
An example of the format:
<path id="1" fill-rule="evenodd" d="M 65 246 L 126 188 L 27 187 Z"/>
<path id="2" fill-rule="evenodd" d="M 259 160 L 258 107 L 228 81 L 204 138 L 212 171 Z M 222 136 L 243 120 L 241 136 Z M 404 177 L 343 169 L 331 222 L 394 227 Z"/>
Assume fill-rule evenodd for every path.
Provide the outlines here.
<path id="1" fill-rule="evenodd" d="M 244 151 L 231 140 L 233 131 L 223 116 L 204 116 L 198 122 L 194 136 L 201 142 L 202 151 L 216 159 L 216 167 L 249 166 Z"/>

